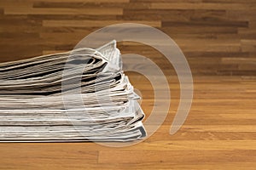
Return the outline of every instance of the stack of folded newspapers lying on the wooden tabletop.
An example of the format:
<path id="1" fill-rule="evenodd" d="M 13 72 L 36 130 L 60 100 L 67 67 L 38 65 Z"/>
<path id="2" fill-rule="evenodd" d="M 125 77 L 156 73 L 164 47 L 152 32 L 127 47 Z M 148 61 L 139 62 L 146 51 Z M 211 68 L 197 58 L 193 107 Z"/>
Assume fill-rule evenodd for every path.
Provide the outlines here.
<path id="1" fill-rule="evenodd" d="M 0 64 L 0 142 L 142 139 L 116 42 Z"/>

